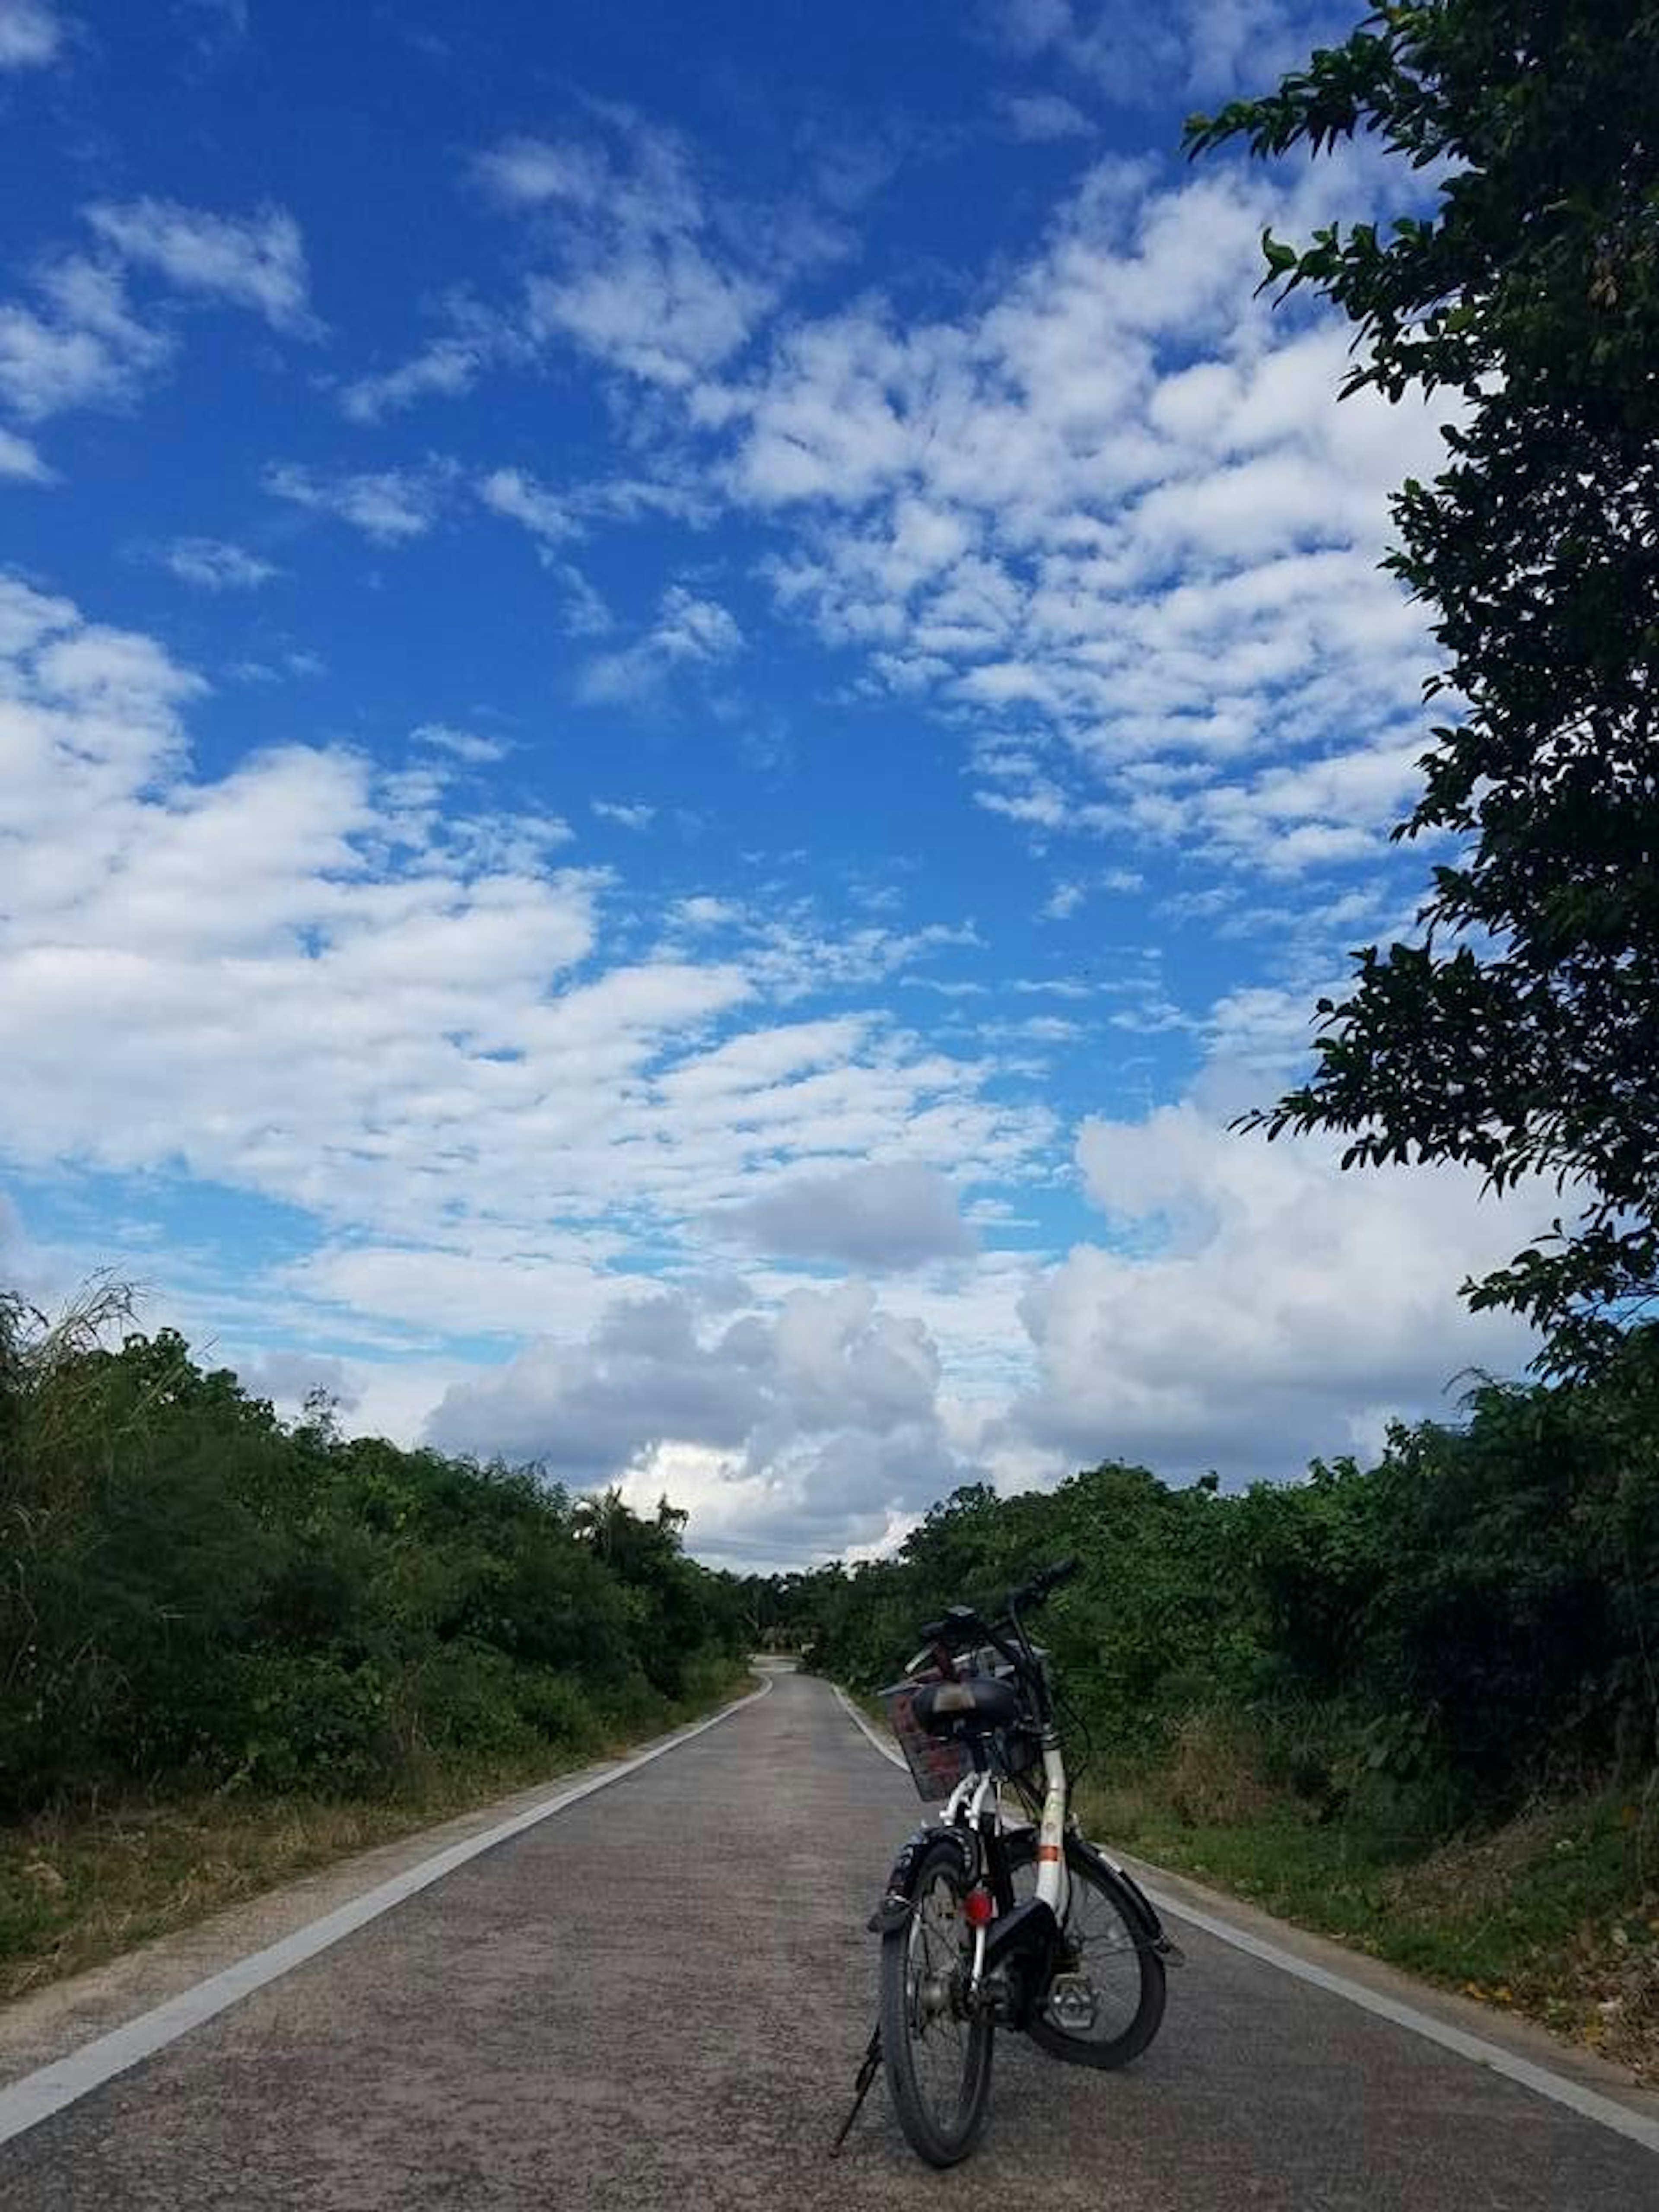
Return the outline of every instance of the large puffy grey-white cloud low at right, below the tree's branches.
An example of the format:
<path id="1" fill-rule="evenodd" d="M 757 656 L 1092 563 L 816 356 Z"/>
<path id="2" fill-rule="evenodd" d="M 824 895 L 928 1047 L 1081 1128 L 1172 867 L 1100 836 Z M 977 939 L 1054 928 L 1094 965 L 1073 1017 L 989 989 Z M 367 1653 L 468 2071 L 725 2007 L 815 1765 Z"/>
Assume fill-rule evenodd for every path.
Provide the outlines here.
<path id="1" fill-rule="evenodd" d="M 1374 1449 L 1387 1416 L 1449 1416 L 1460 1369 L 1522 1365 L 1528 1334 L 1467 1314 L 1458 1283 L 1548 1201 L 1482 1199 L 1453 1168 L 1343 1175 L 1338 1150 L 1243 1137 L 1199 1099 L 1084 1124 L 1077 1164 L 1115 1241 L 1026 1292 L 1040 1380 L 995 1442 L 1055 1467 L 1294 1475 Z"/>

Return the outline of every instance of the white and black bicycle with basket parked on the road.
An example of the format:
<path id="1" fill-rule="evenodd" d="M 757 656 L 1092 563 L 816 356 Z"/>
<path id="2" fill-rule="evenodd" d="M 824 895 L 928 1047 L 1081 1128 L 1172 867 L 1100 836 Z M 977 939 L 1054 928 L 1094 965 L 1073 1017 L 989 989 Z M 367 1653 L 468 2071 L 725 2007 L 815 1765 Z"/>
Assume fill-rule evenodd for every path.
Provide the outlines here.
<path id="1" fill-rule="evenodd" d="M 1164 1969 L 1181 1953 L 1137 1882 L 1077 1827 L 1048 1655 L 1022 1621 L 1075 1573 L 1075 1559 L 1042 1568 L 995 1621 L 951 1606 L 883 1690 L 918 1792 L 945 1803 L 898 1854 L 869 1920 L 880 2011 L 836 2152 L 878 2068 L 911 2150 L 956 2166 L 984 2130 L 998 2026 L 1102 2070 L 1159 2031 Z M 1004 1820 L 1004 1792 L 1029 1825 Z"/>

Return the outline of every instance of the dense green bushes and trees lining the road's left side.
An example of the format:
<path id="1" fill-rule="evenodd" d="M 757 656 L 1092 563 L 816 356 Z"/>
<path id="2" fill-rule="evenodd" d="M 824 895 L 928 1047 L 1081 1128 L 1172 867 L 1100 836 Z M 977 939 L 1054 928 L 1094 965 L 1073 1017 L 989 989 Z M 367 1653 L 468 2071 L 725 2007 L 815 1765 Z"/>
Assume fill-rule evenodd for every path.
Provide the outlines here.
<path id="1" fill-rule="evenodd" d="M 91 1794 L 365 1794 L 582 1752 L 714 1694 L 748 1644 L 681 1515 L 283 1422 L 119 1292 L 0 1294 L 0 1816 Z"/>

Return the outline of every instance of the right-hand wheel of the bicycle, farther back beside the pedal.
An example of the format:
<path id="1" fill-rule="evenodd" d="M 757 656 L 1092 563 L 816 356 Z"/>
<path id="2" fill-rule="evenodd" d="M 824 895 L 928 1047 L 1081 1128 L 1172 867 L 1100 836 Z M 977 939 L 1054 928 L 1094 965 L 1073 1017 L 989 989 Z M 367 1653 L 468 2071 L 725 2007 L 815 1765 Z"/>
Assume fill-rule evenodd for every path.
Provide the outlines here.
<path id="1" fill-rule="evenodd" d="M 1035 1893 L 1033 1829 L 1006 1836 L 1015 1898 Z M 1071 2066 L 1128 2066 L 1164 2022 L 1164 1960 L 1128 1889 L 1077 1836 L 1066 1836 L 1071 1900 L 1062 1924 L 1066 1964 L 1026 2024 L 1031 2042 Z"/>

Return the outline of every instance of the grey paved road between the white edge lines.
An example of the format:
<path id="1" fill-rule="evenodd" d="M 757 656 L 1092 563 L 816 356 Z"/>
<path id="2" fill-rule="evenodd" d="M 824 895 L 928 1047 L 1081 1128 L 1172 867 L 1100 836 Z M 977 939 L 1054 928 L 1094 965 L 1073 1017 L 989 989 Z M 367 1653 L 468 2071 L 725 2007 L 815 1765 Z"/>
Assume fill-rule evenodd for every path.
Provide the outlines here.
<path id="1" fill-rule="evenodd" d="M 880 2086 L 830 2163 L 914 1818 L 781 1677 L 0 2148 L 0 2212 L 1659 2205 L 1641 2146 L 1186 1931 L 1130 2073 L 1004 2037 L 971 2166 L 918 2166 Z"/>

